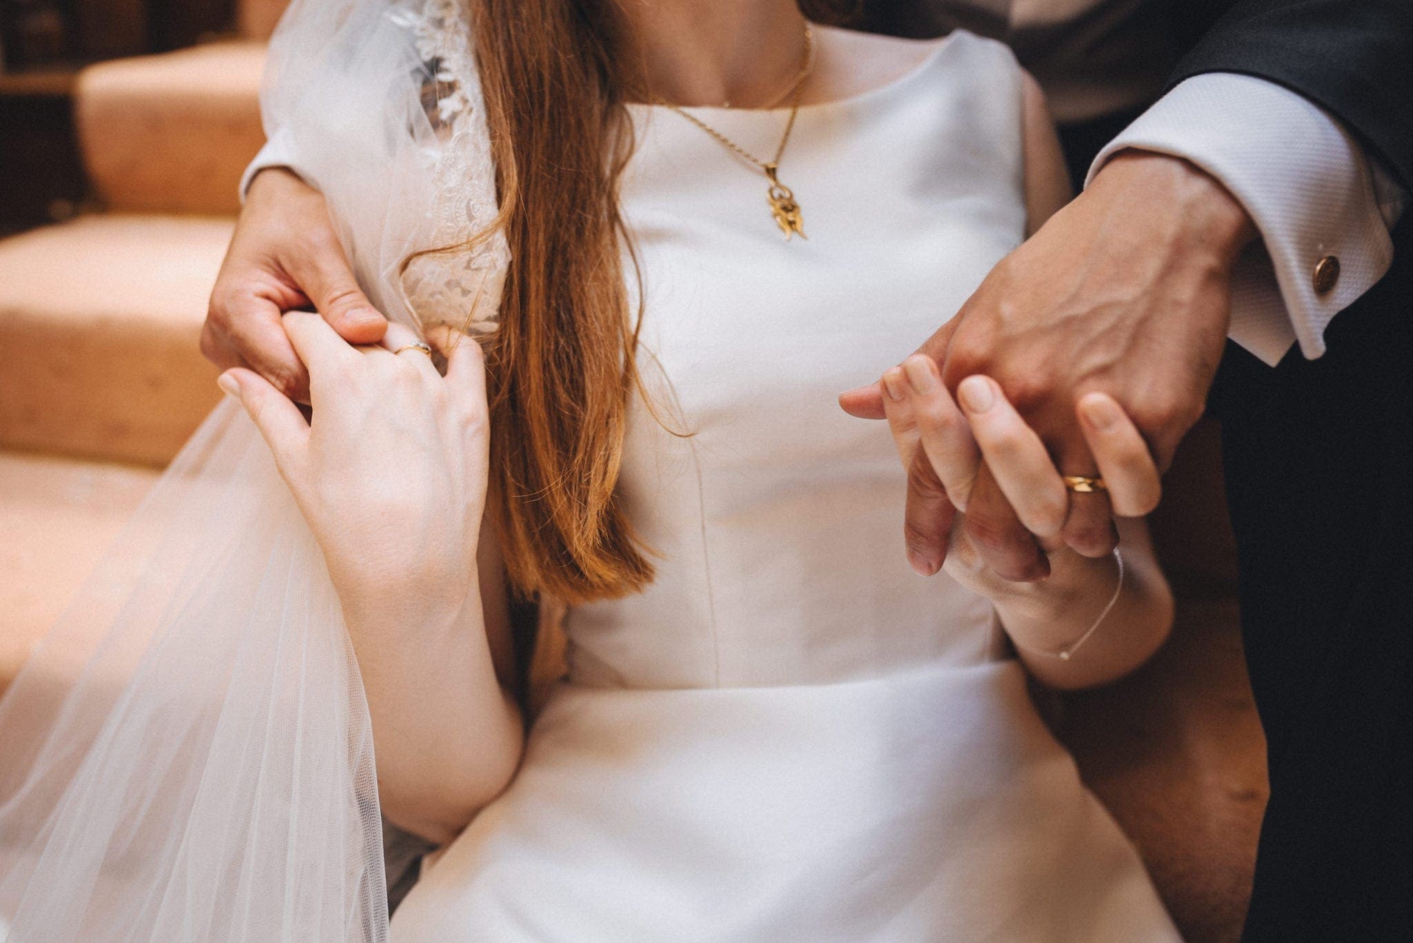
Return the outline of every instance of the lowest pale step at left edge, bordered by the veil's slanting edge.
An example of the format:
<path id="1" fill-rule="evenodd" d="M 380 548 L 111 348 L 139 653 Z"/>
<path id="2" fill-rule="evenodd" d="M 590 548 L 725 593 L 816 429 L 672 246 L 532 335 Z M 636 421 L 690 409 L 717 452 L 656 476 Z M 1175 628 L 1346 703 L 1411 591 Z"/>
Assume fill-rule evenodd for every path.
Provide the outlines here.
<path id="1" fill-rule="evenodd" d="M 0 452 L 0 691 L 157 475 L 150 468 Z"/>

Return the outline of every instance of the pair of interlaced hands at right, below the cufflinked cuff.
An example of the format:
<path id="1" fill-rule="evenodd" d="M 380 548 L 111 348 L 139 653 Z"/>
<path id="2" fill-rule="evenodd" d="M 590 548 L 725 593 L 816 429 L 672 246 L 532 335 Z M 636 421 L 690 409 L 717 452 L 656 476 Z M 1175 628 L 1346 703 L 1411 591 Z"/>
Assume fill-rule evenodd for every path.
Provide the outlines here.
<path id="1" fill-rule="evenodd" d="M 1207 174 L 1123 154 L 913 358 L 841 394 L 897 440 L 911 566 L 933 574 L 961 549 L 1023 584 L 1044 580 L 1058 549 L 1111 553 L 1115 516 L 1153 510 L 1159 474 L 1202 413 L 1231 267 L 1253 238 Z M 1070 492 L 1070 475 L 1108 491 Z"/>

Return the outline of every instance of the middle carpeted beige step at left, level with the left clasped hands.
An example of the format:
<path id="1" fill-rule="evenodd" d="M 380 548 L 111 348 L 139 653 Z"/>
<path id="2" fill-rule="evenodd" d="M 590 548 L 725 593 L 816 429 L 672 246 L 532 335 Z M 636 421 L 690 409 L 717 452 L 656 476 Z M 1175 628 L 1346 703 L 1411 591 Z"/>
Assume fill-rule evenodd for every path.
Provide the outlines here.
<path id="1" fill-rule="evenodd" d="M 198 344 L 230 229 L 85 216 L 0 240 L 0 447 L 165 464 L 220 399 Z"/>

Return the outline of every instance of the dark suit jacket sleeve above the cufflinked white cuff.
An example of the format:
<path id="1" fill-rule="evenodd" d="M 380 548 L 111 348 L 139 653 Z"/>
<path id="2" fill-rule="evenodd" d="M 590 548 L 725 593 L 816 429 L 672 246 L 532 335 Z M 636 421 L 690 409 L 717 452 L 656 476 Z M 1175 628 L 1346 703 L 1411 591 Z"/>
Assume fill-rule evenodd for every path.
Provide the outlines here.
<path id="1" fill-rule="evenodd" d="M 1299 92 L 1413 188 L 1413 0 L 1239 0 L 1170 86 L 1201 72 L 1242 72 Z"/>

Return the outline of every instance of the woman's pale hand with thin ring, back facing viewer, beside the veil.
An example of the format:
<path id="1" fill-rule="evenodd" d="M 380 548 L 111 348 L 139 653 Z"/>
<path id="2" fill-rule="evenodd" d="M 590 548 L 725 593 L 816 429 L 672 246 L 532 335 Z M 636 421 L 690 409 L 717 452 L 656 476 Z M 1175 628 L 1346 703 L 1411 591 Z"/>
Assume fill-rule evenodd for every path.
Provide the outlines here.
<path id="1" fill-rule="evenodd" d="M 418 349 L 393 353 L 417 342 L 400 325 L 363 348 L 317 314 L 291 311 L 284 327 L 309 370 L 312 421 L 253 370 L 226 370 L 220 385 L 274 452 L 345 612 L 452 618 L 475 582 L 486 499 L 480 346 L 430 338 L 447 352 L 442 377 Z"/>

